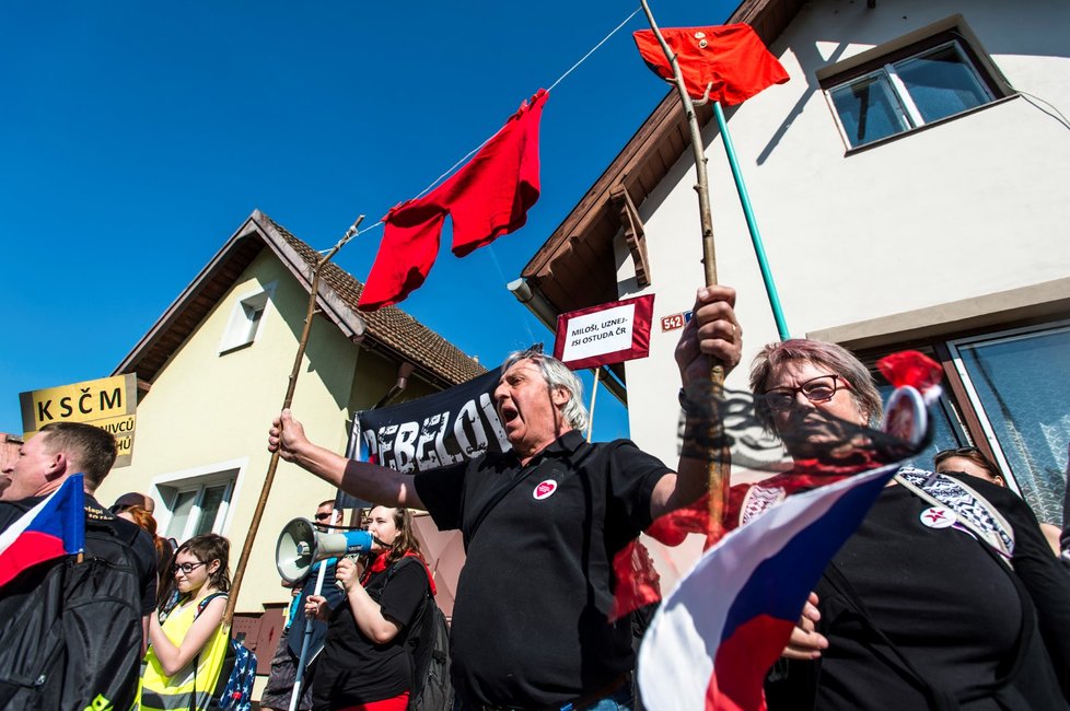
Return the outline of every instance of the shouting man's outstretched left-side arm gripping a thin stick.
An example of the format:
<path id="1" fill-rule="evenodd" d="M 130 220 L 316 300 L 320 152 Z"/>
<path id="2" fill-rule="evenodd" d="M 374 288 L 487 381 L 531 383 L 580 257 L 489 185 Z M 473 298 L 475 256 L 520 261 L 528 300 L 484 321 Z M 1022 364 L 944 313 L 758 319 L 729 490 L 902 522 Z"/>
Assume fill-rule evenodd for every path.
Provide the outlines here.
<path id="1" fill-rule="evenodd" d="M 356 462 L 313 444 L 304 427 L 293 419 L 290 410 L 271 423 L 268 451 L 278 451 L 287 462 L 296 464 L 346 493 L 387 506 L 422 509 L 423 502 L 412 486 L 412 476 L 368 462 Z"/>

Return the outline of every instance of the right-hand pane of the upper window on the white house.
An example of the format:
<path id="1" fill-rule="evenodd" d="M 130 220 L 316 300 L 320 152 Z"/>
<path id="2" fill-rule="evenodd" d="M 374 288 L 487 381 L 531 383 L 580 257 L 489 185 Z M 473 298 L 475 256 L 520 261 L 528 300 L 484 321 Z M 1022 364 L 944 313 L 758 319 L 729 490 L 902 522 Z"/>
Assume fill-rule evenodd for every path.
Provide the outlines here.
<path id="1" fill-rule="evenodd" d="M 954 45 L 906 59 L 895 69 L 927 124 L 989 101 L 977 74 Z"/>

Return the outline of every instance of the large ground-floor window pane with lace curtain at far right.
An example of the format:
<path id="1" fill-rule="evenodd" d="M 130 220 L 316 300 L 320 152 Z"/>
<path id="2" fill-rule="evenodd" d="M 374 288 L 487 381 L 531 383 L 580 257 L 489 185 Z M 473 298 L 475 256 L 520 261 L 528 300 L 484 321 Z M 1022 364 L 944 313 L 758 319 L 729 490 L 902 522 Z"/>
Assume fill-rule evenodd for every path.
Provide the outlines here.
<path id="1" fill-rule="evenodd" d="M 1062 523 L 1070 438 L 1070 328 L 958 347 L 984 415 L 1026 501 Z"/>

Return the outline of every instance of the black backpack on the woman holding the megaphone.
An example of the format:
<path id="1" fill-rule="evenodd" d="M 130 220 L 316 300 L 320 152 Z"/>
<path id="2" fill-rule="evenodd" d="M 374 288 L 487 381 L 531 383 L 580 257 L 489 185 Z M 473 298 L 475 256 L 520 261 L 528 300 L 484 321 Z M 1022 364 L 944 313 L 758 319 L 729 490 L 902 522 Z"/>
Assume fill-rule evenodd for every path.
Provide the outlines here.
<path id="1" fill-rule="evenodd" d="M 408 558 L 398 562 L 405 560 Z M 422 561 L 420 564 L 423 564 Z M 393 570 L 396 571 L 397 567 Z M 450 683 L 450 627 L 430 588 L 412 632 L 410 639 L 415 642 L 411 646 L 412 689 L 409 691 L 409 711 L 451 711 L 453 684 Z"/>

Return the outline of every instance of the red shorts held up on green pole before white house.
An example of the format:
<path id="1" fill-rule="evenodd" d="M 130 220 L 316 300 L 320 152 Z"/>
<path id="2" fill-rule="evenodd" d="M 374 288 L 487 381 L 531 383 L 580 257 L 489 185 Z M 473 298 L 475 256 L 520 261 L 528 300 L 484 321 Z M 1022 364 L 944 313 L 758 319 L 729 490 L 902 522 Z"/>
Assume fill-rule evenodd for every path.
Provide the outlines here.
<path id="1" fill-rule="evenodd" d="M 684 86 L 691 98 L 702 98 L 710 89 L 710 101 L 742 104 L 758 92 L 788 81 L 788 72 L 751 25 L 713 27 L 672 27 L 661 31 L 676 54 Z M 636 46 L 651 71 L 673 81 L 673 68 L 651 30 L 633 34 Z"/>

